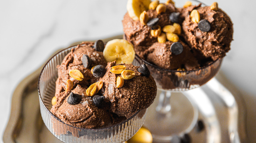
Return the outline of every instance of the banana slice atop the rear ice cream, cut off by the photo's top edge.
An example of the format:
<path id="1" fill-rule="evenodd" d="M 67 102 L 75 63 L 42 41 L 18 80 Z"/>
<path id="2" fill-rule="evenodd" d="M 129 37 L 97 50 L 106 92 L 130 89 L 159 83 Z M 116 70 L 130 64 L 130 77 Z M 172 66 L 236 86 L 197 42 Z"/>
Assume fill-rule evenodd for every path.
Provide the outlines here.
<path id="1" fill-rule="evenodd" d="M 150 3 L 151 0 L 128 0 L 126 8 L 129 16 L 133 20 L 139 20 L 140 13 L 147 11 Z"/>

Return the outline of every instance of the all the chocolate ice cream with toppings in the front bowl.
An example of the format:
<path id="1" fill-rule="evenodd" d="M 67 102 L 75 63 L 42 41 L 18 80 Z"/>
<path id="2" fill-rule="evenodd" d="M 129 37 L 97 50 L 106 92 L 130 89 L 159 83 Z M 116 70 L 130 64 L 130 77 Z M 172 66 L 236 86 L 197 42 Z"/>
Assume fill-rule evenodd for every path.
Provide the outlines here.
<path id="1" fill-rule="evenodd" d="M 125 42 L 116 42 L 127 50 Z M 83 42 L 57 66 L 51 112 L 66 124 L 79 128 L 107 127 L 146 109 L 156 97 L 156 83 L 147 67 L 121 64 L 121 69 L 117 67 L 113 71 L 116 61 L 106 62 L 104 47 L 104 44 L 97 47 L 93 42 Z M 112 47 L 116 47 L 113 41 L 105 48 Z"/>

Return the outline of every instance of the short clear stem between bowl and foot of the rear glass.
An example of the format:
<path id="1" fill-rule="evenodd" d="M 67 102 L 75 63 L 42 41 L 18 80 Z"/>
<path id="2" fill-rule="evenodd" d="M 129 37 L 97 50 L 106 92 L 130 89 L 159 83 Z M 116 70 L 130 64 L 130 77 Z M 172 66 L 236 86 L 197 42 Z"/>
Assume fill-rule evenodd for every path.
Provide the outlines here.
<path id="1" fill-rule="evenodd" d="M 166 114 L 171 110 L 170 97 L 171 97 L 170 91 L 162 91 L 160 93 L 159 102 L 156 107 L 157 112 L 161 114 Z"/>

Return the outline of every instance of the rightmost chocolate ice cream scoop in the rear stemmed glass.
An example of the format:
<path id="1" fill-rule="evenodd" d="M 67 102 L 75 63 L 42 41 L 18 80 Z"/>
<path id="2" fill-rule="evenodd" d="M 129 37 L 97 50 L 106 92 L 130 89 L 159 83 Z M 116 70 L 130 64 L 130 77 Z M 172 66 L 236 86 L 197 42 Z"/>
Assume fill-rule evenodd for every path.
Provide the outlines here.
<path id="1" fill-rule="evenodd" d="M 201 20 L 207 20 L 210 23 L 209 31 L 201 31 L 199 24 L 191 21 L 189 14 L 193 9 L 198 10 Z M 216 60 L 224 57 L 230 50 L 233 36 L 233 24 L 228 15 L 220 8 L 211 10 L 210 7 L 200 6 L 190 6 L 184 10 L 184 13 L 186 13 L 182 23 L 184 38 L 198 58 Z"/>

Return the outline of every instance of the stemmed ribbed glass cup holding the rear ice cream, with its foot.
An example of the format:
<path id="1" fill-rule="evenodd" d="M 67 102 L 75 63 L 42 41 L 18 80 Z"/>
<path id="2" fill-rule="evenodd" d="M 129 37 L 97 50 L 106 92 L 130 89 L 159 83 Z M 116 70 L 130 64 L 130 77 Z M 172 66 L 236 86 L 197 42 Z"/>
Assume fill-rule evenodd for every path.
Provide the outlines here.
<path id="1" fill-rule="evenodd" d="M 175 71 L 160 68 L 135 56 L 133 64 L 146 64 L 157 83 L 158 95 L 148 108 L 143 125 L 150 130 L 154 141 L 170 141 L 173 136 L 182 136 L 193 129 L 198 119 L 198 108 L 186 96 L 187 90 L 207 83 L 217 74 L 221 63 L 222 59 L 218 59 L 197 70 Z"/>

